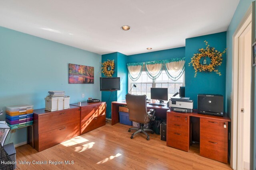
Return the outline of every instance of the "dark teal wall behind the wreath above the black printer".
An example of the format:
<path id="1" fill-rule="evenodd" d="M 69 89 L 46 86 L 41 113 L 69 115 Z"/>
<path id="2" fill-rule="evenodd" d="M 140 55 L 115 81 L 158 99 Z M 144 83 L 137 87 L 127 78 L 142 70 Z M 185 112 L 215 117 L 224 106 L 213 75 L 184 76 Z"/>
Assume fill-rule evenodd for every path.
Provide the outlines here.
<path id="1" fill-rule="evenodd" d="M 226 32 L 186 39 L 185 96 L 194 100 L 194 109 L 197 108 L 197 95 L 200 93 L 222 94 L 225 101 L 226 54 L 223 55 L 221 66 L 217 67 L 222 74 L 221 76 L 215 72 L 198 72 L 197 76 L 194 77 L 195 72 L 193 66 L 188 66 L 193 55 L 198 53 L 198 49 L 206 47 L 205 40 L 208 41 L 210 47 L 215 47 L 216 50 L 222 52 L 226 49 Z"/>

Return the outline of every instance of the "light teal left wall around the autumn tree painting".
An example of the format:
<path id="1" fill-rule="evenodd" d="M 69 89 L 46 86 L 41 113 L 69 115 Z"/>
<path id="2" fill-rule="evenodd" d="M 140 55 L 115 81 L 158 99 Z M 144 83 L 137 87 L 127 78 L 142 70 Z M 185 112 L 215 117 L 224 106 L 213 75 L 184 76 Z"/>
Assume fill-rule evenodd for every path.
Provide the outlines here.
<path id="1" fill-rule="evenodd" d="M 101 56 L 4 27 L 0 27 L 0 107 L 31 104 L 45 107 L 49 90 L 64 90 L 70 103 L 101 98 Z M 94 66 L 94 84 L 68 84 L 68 63 Z M 82 98 L 82 93 L 85 98 Z M 6 143 L 26 141 L 26 128 L 8 135 Z"/>

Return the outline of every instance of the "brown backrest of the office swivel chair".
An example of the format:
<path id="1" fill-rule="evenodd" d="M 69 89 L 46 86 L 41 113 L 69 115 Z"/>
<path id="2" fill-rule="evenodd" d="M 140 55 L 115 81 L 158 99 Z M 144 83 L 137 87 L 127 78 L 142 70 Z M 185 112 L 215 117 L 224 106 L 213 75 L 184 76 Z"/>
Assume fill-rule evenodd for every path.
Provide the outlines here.
<path id="1" fill-rule="evenodd" d="M 146 123 L 148 116 L 146 95 L 126 94 L 126 104 L 130 121 Z"/>

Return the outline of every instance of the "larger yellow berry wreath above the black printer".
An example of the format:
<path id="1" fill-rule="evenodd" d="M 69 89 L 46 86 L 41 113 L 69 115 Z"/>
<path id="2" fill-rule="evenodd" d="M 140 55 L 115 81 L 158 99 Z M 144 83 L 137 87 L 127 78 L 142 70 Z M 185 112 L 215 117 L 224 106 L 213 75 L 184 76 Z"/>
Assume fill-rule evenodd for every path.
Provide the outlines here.
<path id="1" fill-rule="evenodd" d="M 207 41 L 204 41 L 206 48 L 205 49 L 199 49 L 198 51 L 200 53 L 194 54 L 194 56 L 191 58 L 191 62 L 188 63 L 188 66 L 192 64 L 195 70 L 195 76 L 197 72 L 202 72 L 202 71 L 208 71 L 208 72 L 216 72 L 216 74 L 220 74 L 220 71 L 216 69 L 216 66 L 220 66 L 222 64 L 222 55 L 226 53 L 226 49 L 221 53 L 220 51 L 217 51 L 214 47 L 210 47 L 208 45 Z M 203 64 L 200 62 L 200 59 L 204 57 L 204 62 Z M 210 64 L 206 64 L 206 57 L 209 57 L 211 62 Z"/>

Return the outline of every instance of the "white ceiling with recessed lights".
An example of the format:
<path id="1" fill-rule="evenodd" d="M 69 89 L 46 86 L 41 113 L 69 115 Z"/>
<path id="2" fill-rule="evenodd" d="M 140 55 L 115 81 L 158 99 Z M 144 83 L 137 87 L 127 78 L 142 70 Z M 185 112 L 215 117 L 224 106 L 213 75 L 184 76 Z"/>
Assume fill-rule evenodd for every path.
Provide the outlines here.
<path id="1" fill-rule="evenodd" d="M 0 26 L 98 54 L 185 46 L 226 31 L 239 0 L 0 0 Z M 129 25 L 129 31 L 120 29 Z M 147 50 L 152 47 L 152 50 Z"/>

